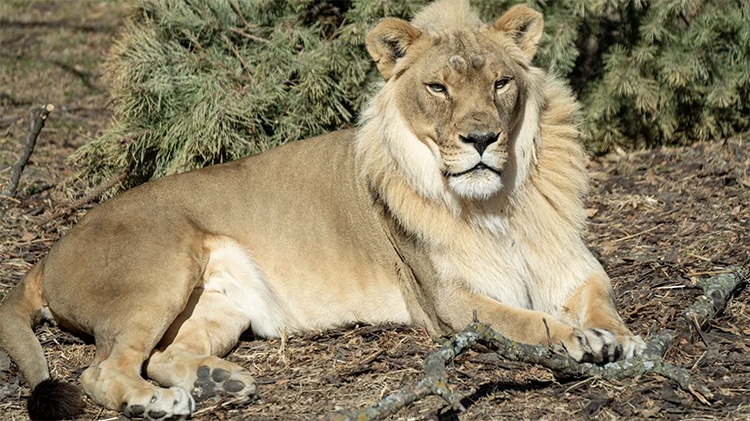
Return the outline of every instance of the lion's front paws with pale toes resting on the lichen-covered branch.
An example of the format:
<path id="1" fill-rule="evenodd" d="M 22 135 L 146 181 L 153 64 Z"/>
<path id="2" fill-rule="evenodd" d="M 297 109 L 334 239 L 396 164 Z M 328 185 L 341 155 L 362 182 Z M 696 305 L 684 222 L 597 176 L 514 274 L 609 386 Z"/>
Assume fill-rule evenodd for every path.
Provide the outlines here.
<path id="1" fill-rule="evenodd" d="M 615 335 L 606 329 L 573 329 L 563 346 L 576 361 L 592 363 L 632 358 L 646 347 L 639 336 Z"/>

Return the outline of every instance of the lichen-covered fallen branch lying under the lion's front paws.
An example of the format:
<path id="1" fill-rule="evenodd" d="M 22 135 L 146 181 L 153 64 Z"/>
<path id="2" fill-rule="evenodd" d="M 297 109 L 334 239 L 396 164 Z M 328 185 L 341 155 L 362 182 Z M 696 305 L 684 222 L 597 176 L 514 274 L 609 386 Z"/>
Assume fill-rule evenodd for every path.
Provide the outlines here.
<path id="1" fill-rule="evenodd" d="M 685 317 L 688 320 L 697 320 L 700 325 L 707 323 L 724 308 L 732 294 L 744 283 L 746 283 L 745 275 L 737 268 L 731 268 L 718 276 L 700 280 L 698 284 L 705 295 L 685 312 Z M 381 420 L 431 395 L 440 396 L 452 408 L 463 410 L 460 399 L 453 394 L 446 382 L 445 367 L 448 362 L 471 348 L 476 342 L 487 344 L 506 360 L 541 365 L 550 369 L 555 376 L 562 378 L 598 377 L 615 380 L 648 373 L 658 374 L 674 381 L 680 388 L 708 405 L 708 399 L 713 397 L 708 387 L 693 379 L 688 370 L 664 360 L 663 356 L 674 337 L 674 331 L 663 330 L 647 339 L 646 350 L 642 356 L 599 366 L 577 362 L 567 354 L 555 351 L 552 347 L 514 342 L 495 332 L 489 325 L 475 320 L 450 342 L 427 355 L 423 365 L 425 377 L 416 385 L 399 389 L 366 408 L 341 410 L 334 419 L 337 421 Z"/>

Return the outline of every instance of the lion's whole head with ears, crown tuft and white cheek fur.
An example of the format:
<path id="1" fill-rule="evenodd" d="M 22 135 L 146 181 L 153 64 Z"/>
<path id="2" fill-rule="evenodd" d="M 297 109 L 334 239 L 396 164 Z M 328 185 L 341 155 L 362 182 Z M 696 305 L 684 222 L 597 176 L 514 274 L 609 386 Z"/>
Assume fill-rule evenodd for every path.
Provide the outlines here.
<path id="1" fill-rule="evenodd" d="M 365 124 L 379 119 L 397 170 L 423 197 L 485 200 L 523 182 L 539 135 L 544 75 L 531 60 L 542 27 L 526 6 L 485 24 L 467 1 L 443 0 L 368 34 L 385 84 Z"/>

